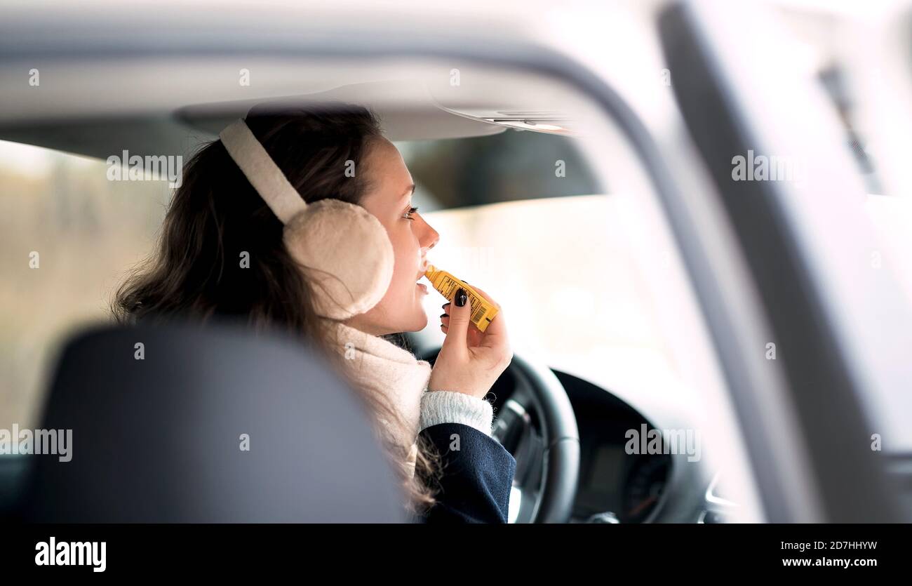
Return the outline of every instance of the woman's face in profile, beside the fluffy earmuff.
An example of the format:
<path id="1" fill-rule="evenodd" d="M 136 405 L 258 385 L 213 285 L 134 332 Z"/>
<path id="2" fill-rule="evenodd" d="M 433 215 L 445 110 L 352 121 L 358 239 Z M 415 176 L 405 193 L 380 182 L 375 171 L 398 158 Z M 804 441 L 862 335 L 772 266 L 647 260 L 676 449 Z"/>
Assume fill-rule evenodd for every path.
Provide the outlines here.
<path id="1" fill-rule="evenodd" d="M 422 307 L 427 293 L 417 282 L 427 266 L 425 255 L 440 235 L 417 212 L 409 213 L 414 183 L 392 142 L 384 138 L 373 141 L 366 167 L 371 186 L 361 205 L 387 229 L 396 262 L 386 295 L 346 324 L 377 336 L 423 330 L 428 324 Z"/>

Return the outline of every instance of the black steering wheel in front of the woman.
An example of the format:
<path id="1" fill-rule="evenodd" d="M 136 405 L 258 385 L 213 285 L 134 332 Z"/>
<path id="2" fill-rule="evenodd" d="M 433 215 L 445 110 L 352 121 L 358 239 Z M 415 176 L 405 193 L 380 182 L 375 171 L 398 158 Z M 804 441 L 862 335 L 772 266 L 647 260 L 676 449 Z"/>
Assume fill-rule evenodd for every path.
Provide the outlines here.
<path id="1" fill-rule="evenodd" d="M 440 347 L 426 354 L 431 364 Z M 509 392 L 496 413 L 493 438 L 516 460 L 510 496 L 512 523 L 566 523 L 579 477 L 579 430 L 564 385 L 549 368 L 513 361 L 492 387 Z M 495 391 L 498 390 L 498 391 Z"/>

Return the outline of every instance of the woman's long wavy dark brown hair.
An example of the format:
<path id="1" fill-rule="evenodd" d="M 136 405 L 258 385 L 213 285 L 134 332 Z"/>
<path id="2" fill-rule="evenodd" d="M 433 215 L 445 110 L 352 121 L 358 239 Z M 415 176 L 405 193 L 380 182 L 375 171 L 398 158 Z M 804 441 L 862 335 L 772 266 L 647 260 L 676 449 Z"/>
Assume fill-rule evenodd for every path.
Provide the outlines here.
<path id="1" fill-rule="evenodd" d="M 306 109 L 264 104 L 250 110 L 247 126 L 308 204 L 326 198 L 359 204 L 370 188 L 365 164 L 372 141 L 382 136 L 378 117 L 349 104 Z M 356 177 L 345 176 L 354 161 Z M 380 418 L 404 425 L 383 397 L 358 387 L 346 375 L 341 340 L 320 319 L 311 283 L 282 241 L 283 225 L 233 162 L 222 141 L 208 143 L 185 164 L 171 199 L 157 250 L 135 267 L 111 303 L 121 323 L 167 319 L 242 319 L 256 331 L 282 330 L 307 340 L 336 361 L 337 371 L 358 389 L 375 417 L 406 494 L 407 510 L 426 512 L 439 487 L 440 455 L 419 437 L 415 474 L 408 451 L 379 431 Z M 249 267 L 241 255 L 249 254 Z M 392 335 L 385 337 L 401 343 Z"/>

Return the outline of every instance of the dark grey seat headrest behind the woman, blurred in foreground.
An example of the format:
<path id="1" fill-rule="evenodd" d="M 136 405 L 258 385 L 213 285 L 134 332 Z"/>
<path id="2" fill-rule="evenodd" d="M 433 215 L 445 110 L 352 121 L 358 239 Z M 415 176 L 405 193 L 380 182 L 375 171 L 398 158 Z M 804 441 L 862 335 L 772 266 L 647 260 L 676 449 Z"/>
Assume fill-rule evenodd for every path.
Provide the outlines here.
<path id="1" fill-rule="evenodd" d="M 404 520 L 366 407 L 292 340 L 90 331 L 63 352 L 42 428 L 72 430 L 72 459 L 35 457 L 25 520 Z"/>

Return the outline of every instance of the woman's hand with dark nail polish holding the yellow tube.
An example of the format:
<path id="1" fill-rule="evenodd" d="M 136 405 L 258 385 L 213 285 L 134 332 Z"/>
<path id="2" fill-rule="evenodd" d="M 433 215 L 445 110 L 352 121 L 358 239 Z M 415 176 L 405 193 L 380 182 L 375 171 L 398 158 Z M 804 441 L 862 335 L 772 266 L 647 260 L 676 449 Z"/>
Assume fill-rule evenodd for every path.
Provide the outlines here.
<path id="1" fill-rule="evenodd" d="M 453 299 L 457 303 L 443 306 L 446 313 L 440 317 L 440 327 L 447 337 L 430 371 L 429 391 L 464 392 L 483 399 L 513 360 L 503 308 L 482 289 L 472 288 L 497 306 L 497 315 L 482 332 L 470 321 L 468 293 L 462 307 L 459 293 Z"/>

